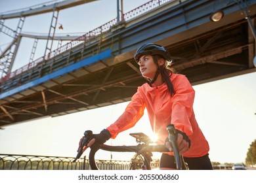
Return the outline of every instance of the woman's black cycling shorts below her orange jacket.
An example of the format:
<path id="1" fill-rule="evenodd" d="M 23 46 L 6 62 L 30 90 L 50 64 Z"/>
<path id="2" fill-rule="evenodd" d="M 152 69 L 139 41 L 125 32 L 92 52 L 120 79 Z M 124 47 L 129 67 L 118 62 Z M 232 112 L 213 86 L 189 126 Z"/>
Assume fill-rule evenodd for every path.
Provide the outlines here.
<path id="1" fill-rule="evenodd" d="M 212 170 L 211 160 L 209 159 L 209 154 L 197 158 L 186 158 L 184 161 L 188 163 L 190 170 Z M 176 169 L 174 156 L 163 153 L 160 159 L 160 168 L 171 168 Z"/>

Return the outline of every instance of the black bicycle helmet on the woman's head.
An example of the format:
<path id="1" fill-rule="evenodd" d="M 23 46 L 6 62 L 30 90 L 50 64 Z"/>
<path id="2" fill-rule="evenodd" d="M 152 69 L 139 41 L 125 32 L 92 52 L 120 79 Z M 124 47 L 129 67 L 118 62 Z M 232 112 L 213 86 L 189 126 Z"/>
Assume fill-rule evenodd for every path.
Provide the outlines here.
<path id="1" fill-rule="evenodd" d="M 171 61 L 171 56 L 163 46 L 154 43 L 148 43 L 140 46 L 135 53 L 134 59 L 138 63 L 140 56 L 142 55 L 160 55 L 163 56 L 167 61 Z"/>

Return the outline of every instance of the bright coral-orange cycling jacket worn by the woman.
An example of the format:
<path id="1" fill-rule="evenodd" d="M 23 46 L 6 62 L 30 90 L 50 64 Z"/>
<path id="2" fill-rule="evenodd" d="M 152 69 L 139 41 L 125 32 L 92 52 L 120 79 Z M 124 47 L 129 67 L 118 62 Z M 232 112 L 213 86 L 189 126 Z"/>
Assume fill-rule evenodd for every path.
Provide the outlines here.
<path id="1" fill-rule="evenodd" d="M 204 156 L 209 152 L 209 144 L 196 122 L 193 110 L 195 91 L 186 76 L 173 73 L 170 78 L 175 95 L 171 97 L 165 83 L 158 87 L 145 83 L 133 95 L 125 112 L 106 129 L 115 139 L 118 133 L 139 121 L 146 107 L 152 130 L 158 135 L 160 144 L 164 144 L 167 138 L 167 125 L 173 124 L 176 129 L 186 133 L 191 141 L 190 149 L 183 156 Z"/>

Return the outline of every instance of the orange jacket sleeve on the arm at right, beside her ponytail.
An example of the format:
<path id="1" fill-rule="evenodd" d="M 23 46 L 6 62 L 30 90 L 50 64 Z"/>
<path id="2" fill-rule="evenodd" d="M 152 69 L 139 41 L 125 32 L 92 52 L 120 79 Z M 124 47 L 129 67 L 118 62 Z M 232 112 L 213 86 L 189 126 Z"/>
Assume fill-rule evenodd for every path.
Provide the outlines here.
<path id="1" fill-rule="evenodd" d="M 171 124 L 186 135 L 192 135 L 190 118 L 193 113 L 195 91 L 186 76 L 182 75 L 175 79 L 173 80 L 175 95 L 173 95 Z"/>

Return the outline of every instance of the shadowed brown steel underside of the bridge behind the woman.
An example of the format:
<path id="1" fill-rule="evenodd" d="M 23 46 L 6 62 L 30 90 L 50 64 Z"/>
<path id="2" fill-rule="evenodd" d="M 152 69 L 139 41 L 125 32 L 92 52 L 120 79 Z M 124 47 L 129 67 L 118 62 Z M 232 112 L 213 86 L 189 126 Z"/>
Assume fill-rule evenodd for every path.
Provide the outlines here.
<path id="1" fill-rule="evenodd" d="M 182 8 L 189 6 L 191 4 L 187 3 Z M 197 8 L 204 5 L 200 6 Z M 250 7 L 251 14 L 255 15 L 255 11 L 255 6 Z M 162 13 L 161 18 L 165 16 Z M 254 16 L 251 18 L 254 22 Z M 224 16 L 221 22 L 205 20 L 202 24 L 198 23 L 177 33 L 170 33 L 170 30 L 160 33 L 156 31 L 157 24 L 162 24 L 159 17 L 154 17 L 155 22 L 152 22 L 152 17 L 148 19 L 152 25 L 144 20 L 133 25 L 127 24 L 122 31 L 108 35 L 106 41 L 101 42 L 100 52 L 111 48 L 112 56 L 109 58 L 100 59 L 1 99 L 0 127 L 43 116 L 60 116 L 129 101 L 137 87 L 146 82 L 133 60 L 136 48 L 145 42 L 165 46 L 174 58 L 173 67 L 178 73 L 186 75 L 193 85 L 255 71 L 255 41 L 240 10 Z M 131 33 L 131 29 L 137 31 Z M 161 29 L 161 25 L 158 29 Z M 141 35 L 146 31 L 154 36 L 142 38 Z M 128 36 L 129 32 L 131 34 Z M 97 48 L 98 42 L 88 46 L 89 50 Z M 90 57 L 89 51 L 85 52 Z M 79 62 L 81 54 L 85 52 L 74 52 L 74 63 Z M 45 70 L 45 73 L 51 72 Z"/>

